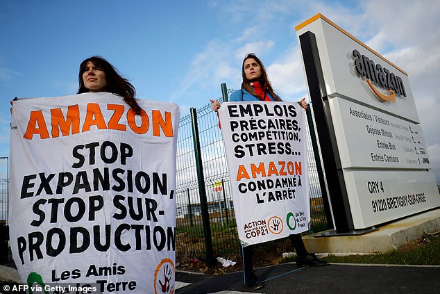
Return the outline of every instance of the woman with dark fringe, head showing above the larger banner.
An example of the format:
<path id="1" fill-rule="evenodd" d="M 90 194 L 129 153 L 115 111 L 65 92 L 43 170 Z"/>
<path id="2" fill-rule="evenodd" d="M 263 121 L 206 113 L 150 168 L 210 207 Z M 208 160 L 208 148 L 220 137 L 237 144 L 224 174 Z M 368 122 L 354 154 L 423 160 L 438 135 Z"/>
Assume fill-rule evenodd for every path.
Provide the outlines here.
<path id="1" fill-rule="evenodd" d="M 117 70 L 107 60 L 100 56 L 92 56 L 85 59 L 79 66 L 78 93 L 86 92 L 110 92 L 124 98 L 137 115 L 140 115 L 141 108 L 135 99 L 135 87 L 124 77 L 118 74 Z"/>

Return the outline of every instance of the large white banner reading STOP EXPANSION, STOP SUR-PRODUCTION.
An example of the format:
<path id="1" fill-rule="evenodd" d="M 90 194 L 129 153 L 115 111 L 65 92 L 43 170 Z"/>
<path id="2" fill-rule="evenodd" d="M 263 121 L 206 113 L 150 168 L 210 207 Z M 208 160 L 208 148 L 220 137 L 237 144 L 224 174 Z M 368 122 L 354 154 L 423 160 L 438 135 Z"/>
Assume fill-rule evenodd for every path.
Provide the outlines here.
<path id="1" fill-rule="evenodd" d="M 176 104 L 13 102 L 10 244 L 28 291 L 174 293 Z M 87 292 L 84 292 L 87 293 Z"/>

